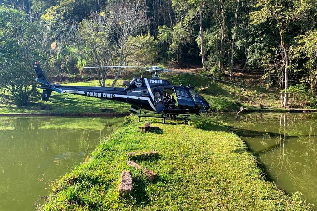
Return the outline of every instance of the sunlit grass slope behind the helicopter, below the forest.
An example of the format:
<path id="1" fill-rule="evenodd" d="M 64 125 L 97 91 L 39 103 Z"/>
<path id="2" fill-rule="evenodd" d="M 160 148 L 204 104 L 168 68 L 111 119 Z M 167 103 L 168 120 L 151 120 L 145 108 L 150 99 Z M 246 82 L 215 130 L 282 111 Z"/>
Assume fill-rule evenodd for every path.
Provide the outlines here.
<path id="1" fill-rule="evenodd" d="M 259 110 L 252 106 L 259 98 L 263 98 L 260 102 L 265 102 L 269 105 L 276 106 L 276 95 L 266 92 L 266 90 L 260 89 L 259 86 L 252 86 L 247 90 L 241 90 L 239 87 L 216 83 L 212 80 L 193 77 L 188 75 L 179 75 L 179 79 L 182 84 L 196 85 L 195 90 L 199 90 L 201 87 L 208 86 L 207 90 L 198 91 L 204 98 L 210 103 L 210 110 L 212 112 L 228 112 L 236 111 L 240 106 L 237 106 L 235 100 L 242 102 L 242 105 L 249 110 Z M 165 75 L 171 84 L 179 84 L 177 76 Z M 236 82 L 248 85 L 243 79 L 238 79 Z M 107 80 L 107 86 L 110 86 L 112 79 Z M 98 86 L 97 81 L 90 82 L 78 82 L 65 85 L 78 85 L 78 86 Z M 122 86 L 122 80 L 118 80 L 116 86 Z M 1 93 L 0 93 L 1 94 Z M 1 95 L 0 95 L 1 96 Z M 42 96 L 42 90 L 31 96 L 30 103 L 25 107 L 16 107 L 10 101 L 7 100 L 6 93 L 2 93 L 2 102 L 0 101 L 0 113 L 99 113 L 100 108 L 113 108 L 113 112 L 128 112 L 130 105 L 122 102 L 115 102 L 109 100 L 100 100 L 97 98 L 69 95 L 63 102 L 67 94 L 60 95 L 53 92 L 49 102 L 44 102 L 40 98 Z M 51 110 L 30 110 L 31 107 L 38 108 L 39 106 L 49 105 L 53 109 Z"/>

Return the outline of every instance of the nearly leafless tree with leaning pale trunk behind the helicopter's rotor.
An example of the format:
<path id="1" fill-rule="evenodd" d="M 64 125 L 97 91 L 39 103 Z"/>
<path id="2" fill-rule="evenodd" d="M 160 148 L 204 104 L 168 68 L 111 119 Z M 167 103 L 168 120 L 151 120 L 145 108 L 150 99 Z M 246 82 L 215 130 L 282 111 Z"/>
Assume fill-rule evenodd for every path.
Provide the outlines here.
<path id="1" fill-rule="evenodd" d="M 128 37 L 136 35 L 148 21 L 145 14 L 145 5 L 141 1 L 119 0 L 110 4 L 108 10 L 111 11 L 113 16 L 114 31 L 120 47 L 119 65 L 122 65 L 131 50 L 126 47 Z M 119 67 L 111 87 L 114 87 L 120 72 L 121 67 Z"/>

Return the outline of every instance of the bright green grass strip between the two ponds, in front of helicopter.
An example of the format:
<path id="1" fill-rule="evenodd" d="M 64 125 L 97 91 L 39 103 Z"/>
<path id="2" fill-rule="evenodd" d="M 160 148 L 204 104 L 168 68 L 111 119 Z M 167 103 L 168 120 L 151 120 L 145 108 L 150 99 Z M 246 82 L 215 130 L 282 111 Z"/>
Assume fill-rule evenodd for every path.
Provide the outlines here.
<path id="1" fill-rule="evenodd" d="M 285 195 L 263 178 L 256 158 L 228 127 L 212 119 L 189 125 L 168 122 L 158 133 L 138 132 L 137 118 L 123 127 L 52 185 L 44 210 L 307 210 L 300 194 Z M 155 150 L 159 156 L 133 159 L 158 173 L 149 182 L 126 165 L 126 152 Z M 133 173 L 133 193 L 118 197 L 120 174 Z"/>

